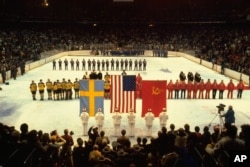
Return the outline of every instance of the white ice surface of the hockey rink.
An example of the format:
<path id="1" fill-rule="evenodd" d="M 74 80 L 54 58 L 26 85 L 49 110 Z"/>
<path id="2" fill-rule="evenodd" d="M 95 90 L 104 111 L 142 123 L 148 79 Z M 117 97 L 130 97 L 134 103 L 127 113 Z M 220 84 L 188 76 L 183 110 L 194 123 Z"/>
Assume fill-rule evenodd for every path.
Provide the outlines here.
<path id="1" fill-rule="evenodd" d="M 83 57 L 62 57 L 64 60 L 71 58 L 81 61 Z M 91 57 L 84 56 L 87 59 L 111 59 L 110 57 Z M 121 59 L 121 57 L 113 57 L 116 59 Z M 125 59 L 125 57 L 122 57 Z M 143 80 L 176 80 L 178 79 L 180 71 L 184 73 L 199 72 L 202 79 L 207 81 L 207 79 L 217 79 L 217 81 L 224 80 L 227 84 L 230 78 L 221 75 L 213 70 L 203 67 L 199 64 L 186 60 L 182 57 L 129 57 L 128 59 L 139 60 L 146 59 L 148 62 L 146 71 L 127 71 L 127 74 L 137 75 L 141 74 Z M 80 67 L 81 69 L 81 67 Z M 51 132 L 52 130 L 57 130 L 59 134 L 63 134 L 65 128 L 74 131 L 74 139 L 84 137 L 82 134 L 82 124 L 79 118 L 79 100 L 62 100 L 62 101 L 49 101 L 47 100 L 47 92 L 45 93 L 45 100 L 39 100 L 39 94 L 37 94 L 36 101 L 32 100 L 32 96 L 29 90 L 29 85 L 31 80 L 36 83 L 40 79 L 44 82 L 49 78 L 51 81 L 55 81 L 62 78 L 70 79 L 74 81 L 75 78 L 81 79 L 85 71 L 69 70 L 62 71 L 52 70 L 52 63 L 45 64 L 39 68 L 32 71 L 26 72 L 23 76 L 18 76 L 16 80 L 9 80 L 9 85 L 0 85 L 3 90 L 0 91 L 0 122 L 7 124 L 9 126 L 15 126 L 19 130 L 22 123 L 27 123 L 29 125 L 29 130 L 36 129 L 42 130 L 43 132 Z M 105 74 L 106 71 L 103 71 Z M 109 74 L 121 74 L 121 71 L 109 71 Z M 238 81 L 234 80 L 236 84 Z M 232 105 L 235 110 L 236 116 L 236 126 L 240 128 L 240 125 L 250 122 L 250 91 L 244 91 L 242 99 L 236 98 L 236 91 L 234 91 L 234 98 L 226 98 L 227 91 L 224 93 L 224 99 L 166 99 L 167 100 L 167 112 L 169 115 L 167 128 L 171 123 L 176 125 L 176 129 L 183 127 L 185 123 L 190 124 L 191 130 L 194 130 L 194 126 L 200 126 L 201 131 L 204 126 L 211 124 L 212 126 L 218 124 L 219 117 L 216 116 L 218 110 L 216 106 L 220 103 L 226 105 Z M 145 121 L 141 117 L 141 100 L 137 100 L 137 118 L 136 118 L 136 136 L 145 136 Z M 104 114 L 105 114 L 105 124 L 104 130 L 107 136 L 110 137 L 111 141 L 116 140 L 113 136 L 113 124 L 112 118 L 109 113 L 110 110 L 110 100 L 104 101 Z M 127 117 L 126 114 L 122 115 L 122 125 L 121 129 L 127 128 Z M 90 118 L 89 127 L 95 125 L 94 118 Z M 211 126 L 211 127 L 212 127 Z M 157 136 L 157 131 L 160 130 L 159 119 L 155 118 L 153 125 L 153 136 Z M 240 130 L 240 129 L 239 129 Z M 131 138 L 135 141 L 135 138 Z"/>

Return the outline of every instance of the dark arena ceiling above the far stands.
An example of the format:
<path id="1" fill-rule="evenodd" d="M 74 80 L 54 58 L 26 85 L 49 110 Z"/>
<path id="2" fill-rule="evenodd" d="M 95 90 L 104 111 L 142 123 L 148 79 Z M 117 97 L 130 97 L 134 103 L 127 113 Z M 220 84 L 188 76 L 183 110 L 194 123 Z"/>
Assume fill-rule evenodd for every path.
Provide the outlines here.
<path id="1" fill-rule="evenodd" d="M 249 0 L 0 0 L 1 17 L 96 22 L 230 20 L 249 14 Z"/>

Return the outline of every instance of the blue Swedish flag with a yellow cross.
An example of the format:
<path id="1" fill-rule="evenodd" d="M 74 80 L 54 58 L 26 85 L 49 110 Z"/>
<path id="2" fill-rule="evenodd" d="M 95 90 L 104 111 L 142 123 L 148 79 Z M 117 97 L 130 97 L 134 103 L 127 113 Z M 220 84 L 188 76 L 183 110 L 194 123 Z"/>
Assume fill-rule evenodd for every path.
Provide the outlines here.
<path id="1" fill-rule="evenodd" d="M 80 80 L 80 114 L 83 107 L 93 117 L 98 108 L 103 109 L 104 82 L 102 80 Z"/>

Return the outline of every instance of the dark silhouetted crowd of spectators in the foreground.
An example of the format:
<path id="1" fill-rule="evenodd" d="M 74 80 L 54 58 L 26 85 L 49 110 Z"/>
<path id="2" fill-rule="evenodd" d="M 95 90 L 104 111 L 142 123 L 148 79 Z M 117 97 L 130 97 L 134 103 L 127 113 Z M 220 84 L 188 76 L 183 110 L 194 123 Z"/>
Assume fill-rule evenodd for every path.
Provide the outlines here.
<path id="1" fill-rule="evenodd" d="M 27 167 L 171 167 L 171 166 L 220 166 L 228 165 L 231 151 L 249 150 L 250 125 L 244 124 L 239 132 L 237 127 L 189 124 L 177 129 L 170 124 L 162 127 L 158 136 L 151 138 L 137 136 L 132 143 L 121 130 L 121 135 L 110 141 L 105 131 L 91 127 L 85 141 L 74 132 L 56 130 L 43 132 L 30 130 L 28 124 L 13 126 L 0 124 L 0 165 Z M 99 134 L 100 133 L 100 134 Z M 76 141 L 76 143 L 75 143 Z M 225 154 L 226 153 L 226 154 Z"/>

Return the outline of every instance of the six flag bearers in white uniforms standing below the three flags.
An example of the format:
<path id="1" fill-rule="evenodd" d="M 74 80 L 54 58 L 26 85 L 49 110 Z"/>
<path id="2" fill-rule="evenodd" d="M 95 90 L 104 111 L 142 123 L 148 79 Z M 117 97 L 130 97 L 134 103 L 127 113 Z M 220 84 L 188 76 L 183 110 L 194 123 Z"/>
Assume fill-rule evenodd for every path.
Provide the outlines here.
<path id="1" fill-rule="evenodd" d="M 128 113 L 120 113 L 119 109 L 115 108 L 115 111 L 112 113 L 112 120 L 114 125 L 113 136 L 119 136 L 121 132 L 121 120 L 125 114 L 128 120 L 128 128 L 127 128 L 128 136 L 130 137 L 135 136 L 136 113 L 132 108 L 128 111 Z M 83 125 L 83 135 L 87 136 L 90 133 L 90 130 L 88 130 L 89 113 L 87 111 L 87 108 L 83 107 L 82 113 L 80 114 L 80 118 Z M 103 128 L 104 118 L 105 118 L 104 113 L 102 112 L 101 108 L 98 108 L 95 114 L 95 121 L 96 121 L 95 128 L 98 130 L 99 133 L 104 129 Z M 144 119 L 146 125 L 146 136 L 150 137 L 152 136 L 152 128 L 155 119 L 155 115 L 152 112 L 151 108 L 148 109 L 147 113 L 144 116 Z M 162 111 L 159 114 L 159 124 L 161 128 L 166 127 L 167 120 L 168 120 L 168 114 L 166 108 L 162 108 Z M 90 129 L 92 128 L 95 129 L 93 126 Z"/>

